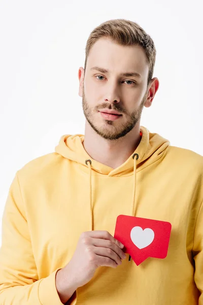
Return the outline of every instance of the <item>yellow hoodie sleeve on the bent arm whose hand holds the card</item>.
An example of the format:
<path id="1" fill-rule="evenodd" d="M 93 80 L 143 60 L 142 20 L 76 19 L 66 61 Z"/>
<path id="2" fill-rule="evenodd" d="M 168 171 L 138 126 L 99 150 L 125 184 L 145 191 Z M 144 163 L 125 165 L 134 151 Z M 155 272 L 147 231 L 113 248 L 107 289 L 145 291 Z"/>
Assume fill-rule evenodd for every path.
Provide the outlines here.
<path id="1" fill-rule="evenodd" d="M 55 276 L 59 269 L 47 278 L 40 280 L 38 278 L 16 173 L 2 218 L 0 304 L 62 305 L 55 286 Z M 75 292 L 71 305 L 76 303 L 76 296 Z"/>

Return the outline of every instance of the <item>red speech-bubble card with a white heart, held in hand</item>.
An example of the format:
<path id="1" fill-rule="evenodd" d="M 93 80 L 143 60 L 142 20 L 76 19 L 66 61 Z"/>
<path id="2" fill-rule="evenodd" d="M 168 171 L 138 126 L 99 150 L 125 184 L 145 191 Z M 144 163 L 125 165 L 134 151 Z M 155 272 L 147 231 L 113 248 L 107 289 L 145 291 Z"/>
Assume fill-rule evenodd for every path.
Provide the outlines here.
<path id="1" fill-rule="evenodd" d="M 119 215 L 114 237 L 123 243 L 123 252 L 138 266 L 148 257 L 167 256 L 171 229 L 169 222 Z"/>

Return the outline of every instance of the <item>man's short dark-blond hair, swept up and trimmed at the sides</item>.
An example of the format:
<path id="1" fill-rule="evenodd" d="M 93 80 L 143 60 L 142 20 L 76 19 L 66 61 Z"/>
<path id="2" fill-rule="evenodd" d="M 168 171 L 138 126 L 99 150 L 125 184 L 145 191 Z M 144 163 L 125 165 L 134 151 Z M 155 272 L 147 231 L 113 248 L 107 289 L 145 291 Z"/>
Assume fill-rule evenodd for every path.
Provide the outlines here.
<path id="1" fill-rule="evenodd" d="M 153 40 L 144 29 L 138 23 L 126 19 L 108 20 L 95 27 L 86 43 L 84 70 L 90 49 L 101 37 L 110 38 L 113 42 L 123 46 L 140 45 L 143 47 L 149 65 L 148 85 L 153 76 L 156 49 Z"/>

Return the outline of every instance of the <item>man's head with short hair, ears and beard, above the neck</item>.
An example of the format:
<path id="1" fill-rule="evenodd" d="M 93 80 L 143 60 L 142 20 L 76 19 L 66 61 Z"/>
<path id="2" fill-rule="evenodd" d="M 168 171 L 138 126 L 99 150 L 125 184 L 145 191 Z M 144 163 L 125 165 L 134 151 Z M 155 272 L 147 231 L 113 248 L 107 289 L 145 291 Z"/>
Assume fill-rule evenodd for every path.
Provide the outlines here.
<path id="1" fill-rule="evenodd" d="M 83 111 L 97 134 L 116 140 L 140 124 L 142 109 L 151 106 L 159 86 L 158 79 L 152 79 L 155 56 L 152 39 L 137 23 L 110 20 L 92 31 L 78 77 Z"/>

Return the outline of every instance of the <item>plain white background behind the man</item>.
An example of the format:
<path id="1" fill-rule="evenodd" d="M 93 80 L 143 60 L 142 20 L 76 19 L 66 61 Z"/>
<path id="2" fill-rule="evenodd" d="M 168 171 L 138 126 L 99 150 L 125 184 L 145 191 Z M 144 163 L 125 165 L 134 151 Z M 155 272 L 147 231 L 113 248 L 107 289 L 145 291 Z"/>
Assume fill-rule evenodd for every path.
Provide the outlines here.
<path id="1" fill-rule="evenodd" d="M 84 134 L 78 69 L 92 29 L 138 22 L 157 50 L 160 86 L 141 125 L 203 155 L 201 1 L 0 1 L 0 217 L 17 170 Z M 0 239 L 1 241 L 1 239 Z"/>

